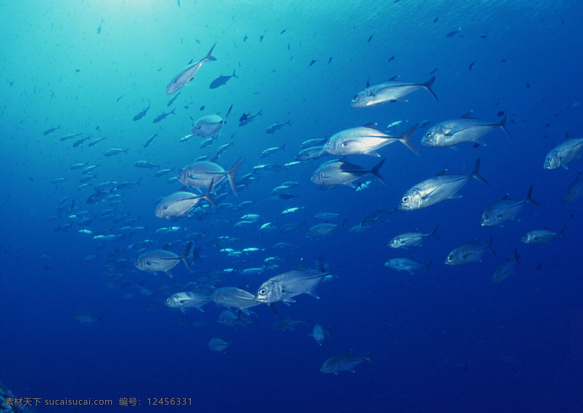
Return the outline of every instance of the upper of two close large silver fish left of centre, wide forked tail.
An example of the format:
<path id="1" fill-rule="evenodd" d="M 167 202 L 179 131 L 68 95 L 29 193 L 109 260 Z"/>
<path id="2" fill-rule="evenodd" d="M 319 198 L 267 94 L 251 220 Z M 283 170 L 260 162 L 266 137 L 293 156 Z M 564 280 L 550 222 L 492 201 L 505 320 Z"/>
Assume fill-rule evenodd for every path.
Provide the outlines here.
<path id="1" fill-rule="evenodd" d="M 210 185 L 211 181 L 214 182 L 213 186 L 216 186 L 222 182 L 224 178 L 227 178 L 229 179 L 231 190 L 233 190 L 233 193 L 238 196 L 235 174 L 241 164 L 243 164 L 245 157 L 243 156 L 239 158 L 229 172 L 217 164 L 215 162 L 216 159 L 217 158 L 215 157 L 210 161 L 198 161 L 185 166 L 178 171 L 178 181 L 182 183 L 182 185 L 191 186 L 192 188 L 206 188 Z M 211 192 L 213 189 L 211 189 Z"/>

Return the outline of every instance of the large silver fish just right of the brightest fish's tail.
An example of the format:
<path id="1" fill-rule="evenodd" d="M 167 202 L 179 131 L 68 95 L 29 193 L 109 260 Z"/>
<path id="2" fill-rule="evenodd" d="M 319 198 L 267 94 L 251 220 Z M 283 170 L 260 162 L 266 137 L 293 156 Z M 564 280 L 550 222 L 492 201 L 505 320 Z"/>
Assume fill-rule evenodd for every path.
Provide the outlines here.
<path id="1" fill-rule="evenodd" d="M 506 128 L 506 115 L 500 123 L 481 121 L 470 117 L 472 112 L 464 114 L 461 118 L 444 121 L 431 126 L 421 139 L 421 144 L 431 147 L 453 146 L 462 142 L 474 142 L 486 146 L 482 136 L 493 129 L 501 128 L 512 140 L 512 136 Z"/>

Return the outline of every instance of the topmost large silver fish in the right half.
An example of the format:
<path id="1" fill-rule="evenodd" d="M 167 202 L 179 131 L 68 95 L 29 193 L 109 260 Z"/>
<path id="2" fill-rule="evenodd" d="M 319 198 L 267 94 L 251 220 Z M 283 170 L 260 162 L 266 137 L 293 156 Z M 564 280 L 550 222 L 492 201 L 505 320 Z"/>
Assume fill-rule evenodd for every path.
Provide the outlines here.
<path id="1" fill-rule="evenodd" d="M 397 77 L 399 76 L 391 77 L 387 82 L 374 84 L 373 86 L 367 85 L 366 89 L 361 90 L 352 97 L 350 106 L 353 108 L 366 108 L 387 102 L 408 102 L 403 96 L 406 96 L 417 89 L 427 90 L 437 101 L 439 101 L 437 95 L 434 93 L 433 89 L 431 89 L 433 82 L 436 80 L 435 76 L 431 77 L 431 79 L 427 80 L 425 83 L 402 82 L 401 80 L 396 80 Z"/>

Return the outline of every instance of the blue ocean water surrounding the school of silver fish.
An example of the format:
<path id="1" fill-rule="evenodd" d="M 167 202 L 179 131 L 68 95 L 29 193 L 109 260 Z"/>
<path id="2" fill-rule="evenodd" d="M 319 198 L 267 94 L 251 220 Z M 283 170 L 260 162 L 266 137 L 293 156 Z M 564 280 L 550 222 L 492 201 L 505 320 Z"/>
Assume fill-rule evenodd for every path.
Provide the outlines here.
<path id="1" fill-rule="evenodd" d="M 17 397 L 40 398 L 37 411 L 106 409 L 44 405 L 86 398 L 113 400 L 110 411 L 127 411 L 131 407 L 120 406 L 120 398 L 136 398 L 140 408 L 154 411 L 163 407 L 148 399 L 165 397 L 188 398 L 199 411 L 216 412 L 580 409 L 583 201 L 563 200 L 581 164 L 543 169 L 546 154 L 563 142 L 566 130 L 572 137 L 583 133 L 580 2 L 108 0 L 4 2 L 1 9 L 0 380 Z M 170 80 L 215 43 L 216 61 L 203 63 L 168 105 L 176 96 L 166 94 Z M 209 89 L 233 70 L 238 78 Z M 406 96 L 409 102 L 350 106 L 367 81 L 378 84 L 396 75 L 413 83 L 436 76 L 432 88 L 439 101 L 418 90 Z M 196 119 L 219 112 L 224 117 L 231 105 L 210 146 L 201 149 L 198 136 L 180 142 Z M 171 110 L 163 121 L 152 122 Z M 260 110 L 251 123 L 238 125 L 243 114 Z M 477 148 L 420 143 L 431 125 L 468 111 L 489 122 L 507 115 L 513 139 L 496 128 L 483 137 L 487 146 Z M 370 122 L 382 129 L 403 121 L 394 130 L 400 135 L 426 119 L 429 125 L 412 136 L 420 156 L 400 143 L 378 150 L 387 158 L 380 170 L 387 185 L 373 181 L 359 192 L 347 186 L 320 190 L 310 177 L 325 161 L 340 158 L 328 156 L 280 171 L 259 170 L 238 197 L 229 186 L 217 191 L 218 203 L 252 202 L 245 209 L 213 209 L 203 202 L 205 211 L 214 211 L 206 220 L 198 220 L 198 212 L 173 220 L 154 216 L 160 197 L 182 187 L 168 179 L 195 158 L 212 158 L 223 144 L 233 143 L 217 160 L 227 170 L 245 156 L 239 179 L 257 165 L 293 161 L 308 139 Z M 287 121 L 275 133 L 265 132 Z M 58 129 L 48 132 L 52 128 Z M 80 135 L 61 140 L 71 133 Z M 260 157 L 283 144 L 285 150 Z M 127 153 L 105 157 L 113 148 Z M 348 159 L 371 168 L 381 158 Z M 388 222 L 365 232 L 347 231 L 379 208 L 394 209 L 406 190 L 442 170 L 470 174 L 477 158 L 489 186 L 470 179 L 460 199 L 392 213 Z M 137 161 L 172 171 L 155 177 L 157 168 L 137 168 Z M 82 189 L 85 166 L 72 170 L 77 163 L 97 165 L 91 172 L 96 177 Z M 65 179 L 53 183 L 58 178 Z M 110 181 L 139 185 L 88 204 L 94 186 Z M 288 192 L 297 197 L 271 195 L 286 181 L 298 182 Z M 524 199 L 530 185 L 539 207 L 526 204 L 520 220 L 503 227 L 480 226 L 486 207 L 507 193 Z M 113 203 L 117 200 L 121 203 Z M 303 208 L 281 214 L 290 207 Z M 104 212 L 108 209 L 113 212 Z M 346 218 L 346 230 L 307 238 L 308 228 L 322 223 L 314 217 L 321 212 L 342 214 L 331 222 Z M 260 224 L 277 227 L 305 224 L 289 234 L 261 236 L 258 225 L 234 228 L 244 214 L 260 214 Z M 79 224 L 87 217 L 96 218 Z M 132 218 L 129 226 L 143 229 L 120 236 Z M 210 225 L 219 219 L 229 222 Z M 406 250 L 387 246 L 395 235 L 427 233 L 436 224 L 440 240 Z M 528 231 L 547 226 L 560 231 L 563 225 L 567 241 L 521 242 Z M 161 227 L 179 228 L 155 234 Z M 130 245 L 151 239 L 146 249 L 170 243 L 181 255 L 193 232 L 205 234 L 194 242 L 202 257 L 190 258 L 193 270 L 236 269 L 214 286 L 245 286 L 255 294 L 301 258 L 315 268 L 320 256 L 335 277 L 318 286 L 319 299 L 300 295 L 289 306 L 276 303 L 278 316 L 261 304 L 253 308 L 259 309 L 255 325 L 223 326 L 217 319 L 224 308 L 215 303 L 186 313 L 164 305 L 168 295 L 200 283 L 206 273 L 189 274 L 178 263 L 169 278 L 134 266 L 141 251 Z M 103 241 L 95 235 L 117 236 Z M 486 252 L 483 262 L 444 264 L 452 249 L 472 239 L 487 243 L 490 235 L 496 256 Z M 249 263 L 234 267 L 241 257 L 208 245 L 217 236 L 237 238 L 236 250 L 265 251 L 244 254 Z M 273 249 L 278 242 L 302 248 L 281 252 Z M 521 259 L 514 274 L 492 283 L 494 270 L 515 249 Z M 238 272 L 275 256 L 285 259 L 279 268 L 253 276 Z M 410 256 L 433 262 L 429 275 L 384 266 Z M 103 325 L 73 319 L 80 311 L 103 314 Z M 304 316 L 308 326 L 272 330 L 278 320 Z M 315 323 L 333 324 L 333 338 L 321 346 L 308 336 Z M 206 343 L 219 336 L 232 343 L 224 353 Z M 319 371 L 333 355 L 366 356 L 371 349 L 375 363 L 364 361 L 354 373 Z"/>

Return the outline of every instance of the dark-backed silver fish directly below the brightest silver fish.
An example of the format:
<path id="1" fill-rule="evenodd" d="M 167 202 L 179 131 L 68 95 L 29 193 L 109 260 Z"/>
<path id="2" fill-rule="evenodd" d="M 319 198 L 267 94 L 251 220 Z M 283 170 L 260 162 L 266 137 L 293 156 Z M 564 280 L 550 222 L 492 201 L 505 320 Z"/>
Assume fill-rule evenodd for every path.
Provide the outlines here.
<path id="1" fill-rule="evenodd" d="M 359 165 L 354 165 L 344 160 L 328 161 L 320 165 L 318 169 L 312 173 L 310 179 L 318 185 L 346 185 L 349 188 L 354 188 L 353 181 L 363 175 L 372 174 L 373 177 L 377 178 L 383 185 L 387 185 L 385 179 L 378 172 L 381 169 L 382 164 L 385 163 L 385 160 L 387 160 L 387 158 L 382 158 L 382 160 L 371 170 L 367 170 L 366 168 L 359 167 Z"/>

